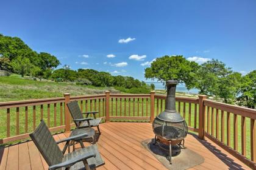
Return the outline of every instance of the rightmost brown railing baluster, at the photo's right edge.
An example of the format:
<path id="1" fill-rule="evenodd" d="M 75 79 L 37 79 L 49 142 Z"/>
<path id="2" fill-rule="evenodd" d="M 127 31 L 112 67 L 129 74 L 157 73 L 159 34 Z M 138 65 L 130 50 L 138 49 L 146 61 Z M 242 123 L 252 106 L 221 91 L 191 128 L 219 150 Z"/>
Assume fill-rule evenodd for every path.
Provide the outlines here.
<path id="1" fill-rule="evenodd" d="M 251 118 L 251 160 L 256 161 L 256 123 Z"/>

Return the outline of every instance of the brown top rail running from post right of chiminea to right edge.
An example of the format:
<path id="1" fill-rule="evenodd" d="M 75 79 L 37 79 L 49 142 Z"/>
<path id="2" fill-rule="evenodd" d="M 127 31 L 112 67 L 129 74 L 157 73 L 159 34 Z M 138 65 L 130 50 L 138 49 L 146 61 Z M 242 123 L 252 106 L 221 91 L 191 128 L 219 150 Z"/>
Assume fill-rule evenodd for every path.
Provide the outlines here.
<path id="1" fill-rule="evenodd" d="M 249 117 L 256 119 L 256 109 L 250 109 L 247 107 L 235 106 L 232 104 L 221 103 L 218 101 L 204 100 L 205 106 L 215 107 L 216 109 L 224 110 L 237 115 L 242 115 L 243 117 Z"/>

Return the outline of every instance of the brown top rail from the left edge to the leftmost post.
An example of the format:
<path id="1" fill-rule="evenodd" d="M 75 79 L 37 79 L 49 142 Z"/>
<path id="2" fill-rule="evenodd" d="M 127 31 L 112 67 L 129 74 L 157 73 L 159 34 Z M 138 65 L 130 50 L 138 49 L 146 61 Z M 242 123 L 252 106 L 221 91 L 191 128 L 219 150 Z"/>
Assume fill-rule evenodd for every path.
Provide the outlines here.
<path id="1" fill-rule="evenodd" d="M 48 103 L 59 103 L 64 102 L 64 97 L 57 98 L 41 98 L 33 100 L 20 100 L 20 101 L 6 101 L 0 102 L 0 109 L 6 109 L 11 107 L 24 107 L 24 106 L 35 106 L 39 104 L 48 104 Z"/>

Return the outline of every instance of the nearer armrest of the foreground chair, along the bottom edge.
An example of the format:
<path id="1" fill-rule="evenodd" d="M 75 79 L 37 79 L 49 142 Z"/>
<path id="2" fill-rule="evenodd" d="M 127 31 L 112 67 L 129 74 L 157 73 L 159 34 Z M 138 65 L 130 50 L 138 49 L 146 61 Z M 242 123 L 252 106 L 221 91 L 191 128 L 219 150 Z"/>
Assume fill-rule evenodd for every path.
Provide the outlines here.
<path id="1" fill-rule="evenodd" d="M 86 159 L 91 158 L 91 157 L 96 157 L 96 155 L 92 152 L 84 154 L 84 155 L 79 155 L 77 157 L 72 158 L 71 160 L 67 160 L 67 161 L 64 161 L 62 163 L 49 166 L 49 170 L 58 169 L 58 168 L 62 168 L 62 167 L 68 168 L 68 167 L 74 165 L 75 163 L 77 163 L 79 161 L 86 160 Z"/>

